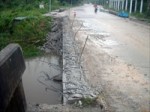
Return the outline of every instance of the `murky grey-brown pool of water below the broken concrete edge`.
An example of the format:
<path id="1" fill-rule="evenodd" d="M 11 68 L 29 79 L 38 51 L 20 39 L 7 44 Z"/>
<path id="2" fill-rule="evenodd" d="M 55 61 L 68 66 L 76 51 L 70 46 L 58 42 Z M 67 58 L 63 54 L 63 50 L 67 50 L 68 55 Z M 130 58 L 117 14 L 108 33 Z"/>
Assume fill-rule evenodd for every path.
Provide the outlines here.
<path id="1" fill-rule="evenodd" d="M 23 85 L 28 103 L 61 103 L 62 84 L 52 80 L 53 76 L 61 74 L 59 59 L 57 55 L 49 55 L 26 60 Z"/>

